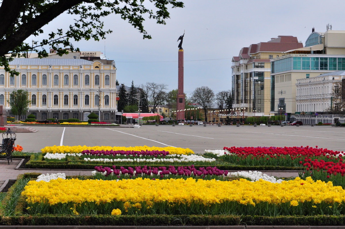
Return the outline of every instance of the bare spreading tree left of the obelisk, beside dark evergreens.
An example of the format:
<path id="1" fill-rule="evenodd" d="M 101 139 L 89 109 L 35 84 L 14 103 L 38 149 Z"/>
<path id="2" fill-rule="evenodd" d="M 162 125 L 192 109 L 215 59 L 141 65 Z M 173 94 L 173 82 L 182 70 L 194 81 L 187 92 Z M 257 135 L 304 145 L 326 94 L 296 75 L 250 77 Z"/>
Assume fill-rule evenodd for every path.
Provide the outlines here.
<path id="1" fill-rule="evenodd" d="M 153 110 L 156 110 L 158 105 L 163 105 L 167 99 L 167 90 L 168 85 L 166 84 L 156 84 L 154 82 L 147 82 L 145 85 L 141 85 L 140 88 L 143 90 L 147 101 Z"/>

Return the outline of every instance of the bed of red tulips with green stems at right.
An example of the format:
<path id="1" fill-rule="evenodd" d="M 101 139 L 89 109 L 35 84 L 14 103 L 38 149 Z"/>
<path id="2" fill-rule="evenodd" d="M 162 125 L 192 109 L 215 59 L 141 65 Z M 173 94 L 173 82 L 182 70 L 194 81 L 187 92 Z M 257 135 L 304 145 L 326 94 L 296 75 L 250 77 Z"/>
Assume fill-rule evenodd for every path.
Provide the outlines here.
<path id="1" fill-rule="evenodd" d="M 311 176 L 314 181 L 332 181 L 333 185 L 345 188 L 345 163 L 343 151 L 313 147 L 224 147 L 226 162 L 248 166 L 303 166 L 299 176 Z"/>

